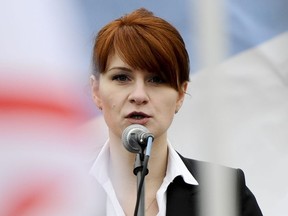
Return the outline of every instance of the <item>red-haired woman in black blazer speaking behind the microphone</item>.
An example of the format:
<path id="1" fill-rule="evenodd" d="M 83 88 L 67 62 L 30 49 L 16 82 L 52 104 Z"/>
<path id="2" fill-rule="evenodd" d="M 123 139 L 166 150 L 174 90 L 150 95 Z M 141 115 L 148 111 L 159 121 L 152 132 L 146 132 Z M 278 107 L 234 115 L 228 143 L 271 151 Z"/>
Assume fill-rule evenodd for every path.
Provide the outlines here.
<path id="1" fill-rule="evenodd" d="M 146 9 L 135 10 L 100 30 L 93 62 L 93 99 L 109 129 L 109 139 L 91 169 L 97 194 L 105 197 L 98 214 L 133 215 L 135 154 L 122 144 L 122 133 L 132 124 L 143 125 L 154 135 L 145 178 L 145 215 L 200 214 L 205 179 L 199 170 L 210 165 L 182 157 L 167 141 L 189 81 L 189 57 L 178 31 Z M 239 180 L 235 183 L 239 215 L 262 215 L 243 172 L 223 169 Z"/>

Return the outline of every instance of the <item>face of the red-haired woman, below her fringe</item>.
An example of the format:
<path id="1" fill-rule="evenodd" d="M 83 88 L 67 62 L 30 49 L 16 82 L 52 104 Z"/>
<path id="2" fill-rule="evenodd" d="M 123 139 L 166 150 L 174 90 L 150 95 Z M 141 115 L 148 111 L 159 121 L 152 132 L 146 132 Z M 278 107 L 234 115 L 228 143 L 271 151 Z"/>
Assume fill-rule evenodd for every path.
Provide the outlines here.
<path id="1" fill-rule="evenodd" d="M 187 83 L 183 86 L 186 91 Z M 109 134 L 121 138 L 131 124 L 141 124 L 155 139 L 166 135 L 184 93 L 153 73 L 131 68 L 115 54 L 99 80 L 92 79 L 93 98 L 102 109 Z"/>

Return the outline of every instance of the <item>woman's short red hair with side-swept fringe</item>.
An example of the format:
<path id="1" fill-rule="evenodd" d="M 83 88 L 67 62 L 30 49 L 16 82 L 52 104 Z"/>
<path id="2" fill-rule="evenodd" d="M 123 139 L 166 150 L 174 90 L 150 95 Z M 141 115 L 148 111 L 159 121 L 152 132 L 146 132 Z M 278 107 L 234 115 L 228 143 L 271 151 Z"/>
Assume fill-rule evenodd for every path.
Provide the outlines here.
<path id="1" fill-rule="evenodd" d="M 189 81 L 189 56 L 180 33 L 144 8 L 98 32 L 93 50 L 96 77 L 106 72 L 109 57 L 116 52 L 130 67 L 158 74 L 177 91 Z"/>

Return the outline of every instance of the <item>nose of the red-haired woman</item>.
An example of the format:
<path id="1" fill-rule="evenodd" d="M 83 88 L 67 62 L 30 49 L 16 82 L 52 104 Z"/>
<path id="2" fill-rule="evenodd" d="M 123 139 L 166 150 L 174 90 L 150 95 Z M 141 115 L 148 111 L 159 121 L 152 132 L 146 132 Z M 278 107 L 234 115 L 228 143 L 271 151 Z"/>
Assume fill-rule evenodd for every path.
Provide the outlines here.
<path id="1" fill-rule="evenodd" d="M 149 96 L 144 82 L 136 82 L 132 86 L 130 95 L 128 97 L 130 103 L 136 105 L 147 104 Z"/>

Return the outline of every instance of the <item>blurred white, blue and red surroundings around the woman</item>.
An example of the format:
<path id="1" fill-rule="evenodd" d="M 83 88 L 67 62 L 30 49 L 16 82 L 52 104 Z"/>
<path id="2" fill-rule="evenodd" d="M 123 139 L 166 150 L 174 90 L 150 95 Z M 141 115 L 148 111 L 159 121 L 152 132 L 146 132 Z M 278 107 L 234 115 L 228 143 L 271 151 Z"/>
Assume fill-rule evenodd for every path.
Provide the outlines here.
<path id="1" fill-rule="evenodd" d="M 1 215 L 89 212 L 78 202 L 90 196 L 83 170 L 107 138 L 90 96 L 93 40 L 139 7 L 172 23 L 190 54 L 172 144 L 240 167 L 264 215 L 287 215 L 286 0 L 0 0 Z"/>

